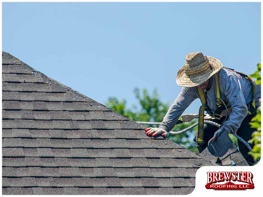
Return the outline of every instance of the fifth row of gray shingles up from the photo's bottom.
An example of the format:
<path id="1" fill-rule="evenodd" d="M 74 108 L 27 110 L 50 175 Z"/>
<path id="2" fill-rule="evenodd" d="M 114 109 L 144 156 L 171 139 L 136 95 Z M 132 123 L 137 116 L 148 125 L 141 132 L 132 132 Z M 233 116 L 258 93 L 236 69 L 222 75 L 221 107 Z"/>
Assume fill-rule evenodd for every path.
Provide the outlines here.
<path id="1" fill-rule="evenodd" d="M 29 142 L 30 144 L 30 142 Z M 56 143 L 55 143 L 56 144 Z M 62 144 L 63 140 L 62 140 Z M 61 145 L 63 146 L 63 145 Z M 181 150 L 181 152 L 179 151 Z M 188 153 L 186 149 L 61 149 L 61 148 L 3 148 L 3 156 L 42 156 L 42 157 L 156 157 L 156 158 L 202 158 Z"/>

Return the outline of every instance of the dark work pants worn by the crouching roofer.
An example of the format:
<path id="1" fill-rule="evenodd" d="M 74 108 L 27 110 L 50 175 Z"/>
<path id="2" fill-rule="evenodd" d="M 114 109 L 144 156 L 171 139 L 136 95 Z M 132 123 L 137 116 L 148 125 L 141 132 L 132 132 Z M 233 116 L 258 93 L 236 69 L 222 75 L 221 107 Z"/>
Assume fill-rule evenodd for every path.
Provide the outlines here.
<path id="1" fill-rule="evenodd" d="M 242 121 L 239 129 L 236 132 L 236 134 L 239 135 L 241 138 L 243 138 L 245 141 L 250 140 L 252 138 L 251 134 L 256 130 L 254 128 L 251 128 L 249 124 L 251 122 L 251 119 L 255 116 L 256 116 L 256 113 L 246 116 L 245 119 Z M 223 120 L 224 118 L 222 117 L 220 120 L 215 119 L 213 121 L 218 124 L 222 124 Z M 214 133 L 218 129 L 219 128 L 214 125 L 204 124 L 204 144 L 201 144 L 201 145 L 197 144 L 197 149 L 199 153 L 203 152 L 203 150 L 208 146 L 208 141 L 211 138 L 213 138 Z M 241 141 L 238 140 L 237 142 L 238 142 L 240 153 L 243 155 L 243 157 L 246 159 L 249 165 L 253 165 L 254 159 L 250 154 L 248 154 L 249 149 Z M 254 144 L 250 144 L 250 146 L 251 148 L 253 148 Z"/>

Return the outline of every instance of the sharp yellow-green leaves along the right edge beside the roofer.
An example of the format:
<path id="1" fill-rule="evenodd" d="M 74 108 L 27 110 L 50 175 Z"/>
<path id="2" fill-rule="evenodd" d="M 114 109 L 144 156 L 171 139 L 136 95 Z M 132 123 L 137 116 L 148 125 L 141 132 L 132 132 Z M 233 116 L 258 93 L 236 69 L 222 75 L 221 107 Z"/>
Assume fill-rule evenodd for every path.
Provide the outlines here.
<path id="1" fill-rule="evenodd" d="M 250 77 L 256 78 L 257 81 L 255 83 L 261 85 L 261 63 L 257 64 L 257 71 L 250 75 Z M 254 147 L 250 154 L 259 161 L 261 157 L 261 107 L 257 109 L 257 115 L 252 119 L 250 125 L 251 128 L 256 129 L 256 131 L 252 133 L 252 139 L 249 140 L 250 144 L 254 143 Z"/>

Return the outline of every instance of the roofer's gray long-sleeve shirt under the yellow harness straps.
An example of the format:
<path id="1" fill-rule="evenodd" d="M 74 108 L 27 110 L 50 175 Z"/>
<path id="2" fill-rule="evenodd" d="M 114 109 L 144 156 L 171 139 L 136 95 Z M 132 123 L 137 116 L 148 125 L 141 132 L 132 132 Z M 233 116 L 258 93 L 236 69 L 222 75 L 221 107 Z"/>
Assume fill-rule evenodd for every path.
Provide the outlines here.
<path id="1" fill-rule="evenodd" d="M 206 91 L 207 104 L 212 112 L 217 109 L 215 102 L 216 87 L 215 78 L 212 76 L 212 86 Z M 255 80 L 254 85 L 255 85 Z M 240 127 L 243 119 L 246 117 L 248 109 L 247 105 L 252 101 L 253 91 L 250 81 L 240 76 L 235 71 L 227 68 L 222 68 L 219 71 L 219 90 L 220 98 L 224 101 L 227 107 L 232 108 L 228 119 L 222 124 L 224 128 L 230 133 L 236 133 Z M 259 106 L 259 98 L 261 90 L 259 85 L 255 85 L 255 105 Z M 177 123 L 178 118 L 183 114 L 184 110 L 193 102 L 193 100 L 200 98 L 197 87 L 183 87 L 176 100 L 170 106 L 166 113 L 162 124 L 159 128 L 169 132 Z"/>

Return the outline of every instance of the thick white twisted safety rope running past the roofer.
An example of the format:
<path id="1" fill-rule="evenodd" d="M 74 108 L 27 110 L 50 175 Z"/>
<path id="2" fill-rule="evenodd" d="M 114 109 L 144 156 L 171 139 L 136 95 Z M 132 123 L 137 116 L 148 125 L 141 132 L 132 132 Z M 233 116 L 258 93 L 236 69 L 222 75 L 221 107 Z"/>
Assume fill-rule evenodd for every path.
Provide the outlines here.
<path id="1" fill-rule="evenodd" d="M 139 123 L 139 124 L 152 124 L 152 125 L 159 125 L 159 124 L 161 124 L 161 122 L 140 122 L 140 121 L 136 121 L 136 122 Z M 213 122 L 213 121 L 211 121 L 211 120 L 204 120 L 204 123 L 206 123 L 206 124 L 212 124 L 212 125 L 220 128 L 220 124 L 215 123 L 215 122 Z M 193 128 L 196 127 L 197 125 L 198 125 L 198 123 L 195 123 L 195 124 L 193 124 L 193 125 L 185 128 L 185 129 L 183 129 L 183 130 L 180 130 L 180 131 L 170 131 L 168 134 L 173 134 L 173 135 L 182 134 L 182 133 L 184 133 L 184 132 L 186 132 L 186 131 L 188 131 L 188 130 L 190 130 L 190 129 L 193 129 Z M 246 147 L 249 149 L 249 151 L 252 151 L 252 148 L 250 147 L 250 145 L 249 145 L 243 138 L 241 138 L 241 137 L 240 137 L 239 135 L 237 135 L 237 134 L 234 134 L 234 136 L 235 136 L 238 140 L 240 140 L 243 144 L 245 144 Z"/>

